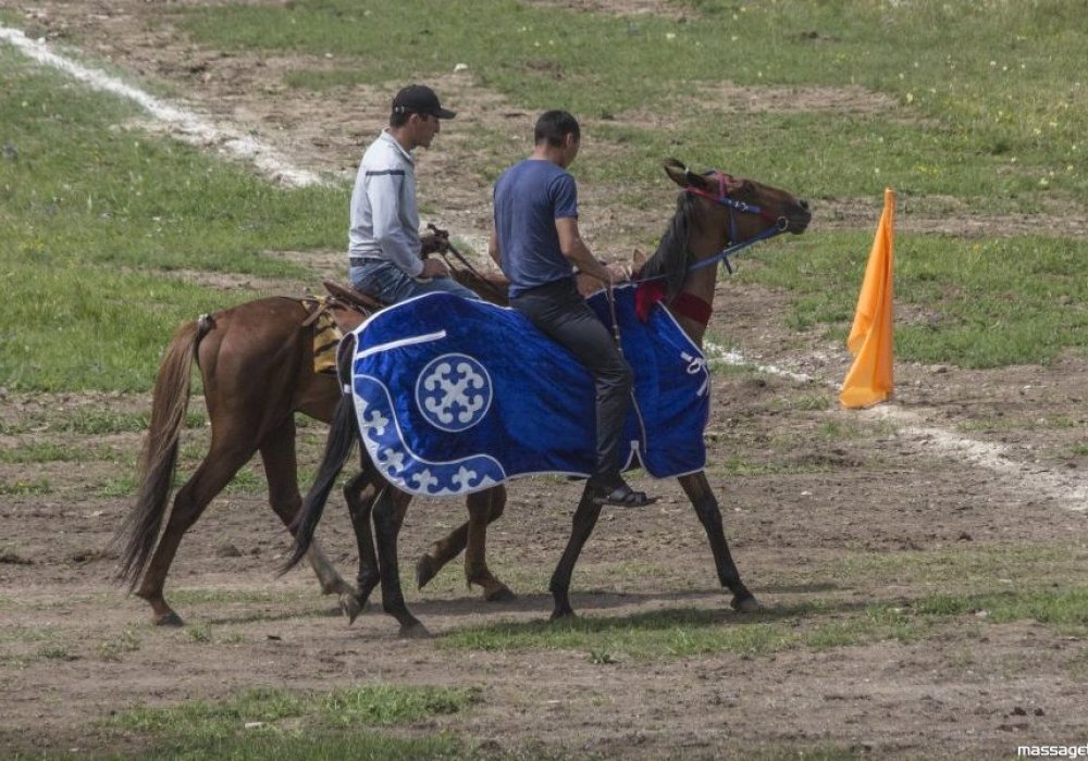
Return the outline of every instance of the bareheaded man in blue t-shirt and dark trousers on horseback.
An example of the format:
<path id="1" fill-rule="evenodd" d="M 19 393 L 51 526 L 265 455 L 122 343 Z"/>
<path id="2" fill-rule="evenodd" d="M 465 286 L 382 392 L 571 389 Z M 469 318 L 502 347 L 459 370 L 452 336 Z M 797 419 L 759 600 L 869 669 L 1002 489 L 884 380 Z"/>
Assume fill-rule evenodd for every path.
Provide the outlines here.
<path id="1" fill-rule="evenodd" d="M 495 226 L 489 252 L 510 279 L 510 305 L 570 350 L 596 385 L 596 456 L 590 476 L 598 504 L 655 501 L 623 481 L 623 420 L 631 403 L 631 367 L 608 329 L 579 295 L 574 269 L 606 285 L 623 279 L 590 253 L 578 232 L 578 188 L 567 167 L 581 130 L 566 111 L 536 121 L 533 154 L 495 183 Z"/>

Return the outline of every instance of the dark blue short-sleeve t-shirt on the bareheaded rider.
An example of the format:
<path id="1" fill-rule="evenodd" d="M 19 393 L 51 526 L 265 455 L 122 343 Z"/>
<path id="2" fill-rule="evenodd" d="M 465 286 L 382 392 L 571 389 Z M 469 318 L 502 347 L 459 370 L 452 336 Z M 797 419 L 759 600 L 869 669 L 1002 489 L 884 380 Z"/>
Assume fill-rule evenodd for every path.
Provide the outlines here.
<path id="1" fill-rule="evenodd" d="M 573 276 L 555 221 L 578 216 L 578 188 L 567 170 L 527 159 L 495 183 L 495 233 L 510 296 Z"/>

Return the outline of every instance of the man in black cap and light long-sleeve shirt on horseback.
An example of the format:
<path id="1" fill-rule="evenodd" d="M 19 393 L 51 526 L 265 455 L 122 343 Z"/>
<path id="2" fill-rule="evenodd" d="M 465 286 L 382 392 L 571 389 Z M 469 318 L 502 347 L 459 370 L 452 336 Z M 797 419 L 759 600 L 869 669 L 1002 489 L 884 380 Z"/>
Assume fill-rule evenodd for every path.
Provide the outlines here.
<path id="1" fill-rule="evenodd" d="M 449 277 L 441 259 L 422 259 L 444 250 L 446 241 L 432 234 L 420 237 L 412 151 L 430 148 L 441 120 L 455 115 L 430 87 L 405 87 L 393 99 L 390 126 L 359 164 L 351 192 L 348 276 L 356 288 L 386 303 L 436 290 L 479 298 Z"/>

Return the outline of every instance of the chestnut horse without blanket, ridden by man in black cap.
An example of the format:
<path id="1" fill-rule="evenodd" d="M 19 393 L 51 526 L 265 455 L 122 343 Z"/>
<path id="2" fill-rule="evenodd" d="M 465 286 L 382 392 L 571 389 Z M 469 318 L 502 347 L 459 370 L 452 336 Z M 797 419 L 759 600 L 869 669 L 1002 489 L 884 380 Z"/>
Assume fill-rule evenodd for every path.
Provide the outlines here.
<path id="1" fill-rule="evenodd" d="M 504 300 L 503 291 L 495 288 L 492 278 L 463 269 L 456 274 L 484 298 Z M 136 503 L 116 536 L 121 547 L 119 577 L 150 603 L 157 624 L 182 624 L 163 597 L 163 586 L 183 535 L 258 451 L 272 509 L 285 525 L 295 519 L 301 504 L 295 412 L 329 422 L 341 397 L 335 377 L 314 372 L 314 327 L 308 320 L 311 310 L 301 300 L 286 297 L 249 301 L 186 323 L 166 348 L 139 458 Z M 178 489 L 165 531 L 157 544 L 177 465 L 194 360 L 203 380 L 211 445 L 200 465 Z M 353 621 L 378 583 L 370 508 L 384 483 L 363 458 L 362 472 L 344 487 L 359 544 L 358 589 L 341 577 L 318 545 L 311 545 L 308 551 L 322 591 L 338 595 L 341 607 Z M 469 521 L 436 541 L 420 559 L 417 581 L 422 587 L 468 546 L 465 571 L 469 584 L 483 587 L 485 599 L 511 599 L 512 592 L 487 569 L 482 529 L 503 513 L 505 489 L 497 487 L 472 495 L 467 501 Z"/>

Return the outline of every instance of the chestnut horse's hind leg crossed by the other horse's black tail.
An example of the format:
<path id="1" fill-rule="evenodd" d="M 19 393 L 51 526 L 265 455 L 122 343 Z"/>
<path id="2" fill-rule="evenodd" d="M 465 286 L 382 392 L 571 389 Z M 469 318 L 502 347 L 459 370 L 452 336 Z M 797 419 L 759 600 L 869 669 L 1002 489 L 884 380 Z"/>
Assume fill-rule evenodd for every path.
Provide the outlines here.
<path id="1" fill-rule="evenodd" d="M 264 463 L 264 477 L 269 483 L 269 504 L 284 525 L 289 527 L 302 506 L 302 496 L 298 491 L 294 417 L 288 416 L 264 436 L 260 452 Z M 306 551 L 306 559 L 318 576 L 322 594 L 336 595 L 342 608 L 355 600 L 355 588 L 339 575 L 317 539 Z"/>

